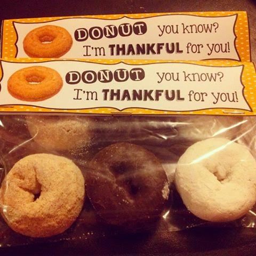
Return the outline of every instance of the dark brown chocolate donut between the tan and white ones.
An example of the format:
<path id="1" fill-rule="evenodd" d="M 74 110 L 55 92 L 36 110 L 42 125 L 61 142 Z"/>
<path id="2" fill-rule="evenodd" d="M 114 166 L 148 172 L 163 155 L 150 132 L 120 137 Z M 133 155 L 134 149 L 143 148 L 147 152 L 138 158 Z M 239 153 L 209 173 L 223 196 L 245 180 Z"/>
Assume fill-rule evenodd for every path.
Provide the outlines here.
<path id="1" fill-rule="evenodd" d="M 100 217 L 132 226 L 156 219 L 169 196 L 164 169 L 148 150 L 131 143 L 103 148 L 86 172 L 86 191 Z"/>

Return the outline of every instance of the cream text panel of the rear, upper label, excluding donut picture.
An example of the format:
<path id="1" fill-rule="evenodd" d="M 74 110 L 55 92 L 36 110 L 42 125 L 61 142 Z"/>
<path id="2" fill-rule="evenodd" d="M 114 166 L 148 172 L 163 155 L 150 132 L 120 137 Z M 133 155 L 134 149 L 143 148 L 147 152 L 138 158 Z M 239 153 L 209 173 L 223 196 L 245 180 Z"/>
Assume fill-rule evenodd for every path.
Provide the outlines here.
<path id="1" fill-rule="evenodd" d="M 23 50 L 23 39 L 29 31 L 55 25 L 66 28 L 73 38 L 71 49 L 62 58 L 239 60 L 235 47 L 236 19 L 237 14 L 224 17 L 173 14 L 141 19 L 14 22 L 18 34 L 17 57 L 28 57 Z"/>

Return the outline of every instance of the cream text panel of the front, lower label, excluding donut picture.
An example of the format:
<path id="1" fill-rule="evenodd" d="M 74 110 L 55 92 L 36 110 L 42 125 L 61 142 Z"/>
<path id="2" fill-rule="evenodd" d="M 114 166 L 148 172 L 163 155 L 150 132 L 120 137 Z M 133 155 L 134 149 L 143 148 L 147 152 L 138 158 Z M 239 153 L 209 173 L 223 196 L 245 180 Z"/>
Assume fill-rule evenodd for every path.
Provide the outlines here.
<path id="1" fill-rule="evenodd" d="M 7 91 L 9 77 L 15 71 L 31 66 L 45 66 L 58 71 L 63 80 L 60 92 L 39 102 L 13 98 Z M 36 64 L 2 61 L 2 68 L 1 105 L 32 105 L 49 109 L 251 110 L 243 94 L 243 65 L 211 67 L 190 63 L 127 65 L 121 62 L 102 65 L 81 61 Z"/>

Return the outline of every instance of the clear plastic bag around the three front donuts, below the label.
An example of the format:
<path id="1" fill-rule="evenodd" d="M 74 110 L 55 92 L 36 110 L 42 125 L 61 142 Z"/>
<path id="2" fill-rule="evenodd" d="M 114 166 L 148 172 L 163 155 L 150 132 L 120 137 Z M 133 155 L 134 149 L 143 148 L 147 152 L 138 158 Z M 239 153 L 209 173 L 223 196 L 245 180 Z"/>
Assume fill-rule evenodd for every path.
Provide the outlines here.
<path id="1" fill-rule="evenodd" d="M 6 182 L 4 178 L 7 173 L 20 159 L 28 155 L 44 153 L 71 159 L 84 175 L 85 194 L 87 194 L 86 189 L 89 186 L 87 182 L 90 179 L 86 179 L 86 175 L 92 168 L 92 159 L 106 147 L 125 142 L 138 145 L 148 150 L 150 154 L 154 154 L 166 173 L 170 193 L 161 211 L 157 212 L 157 218 L 145 221 L 141 213 L 142 221 L 132 221 L 131 225 L 126 221 L 125 226 L 108 223 L 98 214 L 97 207 L 86 195 L 82 211 L 73 225 L 62 234 L 46 238 L 32 238 L 18 234 L 1 218 L 0 244 L 10 246 L 65 239 L 96 241 L 99 237 L 114 234 L 125 236 L 127 233 L 147 232 L 154 235 L 195 226 L 254 227 L 255 207 L 234 221 L 212 222 L 199 219 L 183 204 L 174 182 L 174 173 L 180 157 L 198 141 L 225 138 L 244 145 L 256 157 L 254 120 L 254 117 L 239 116 L 1 116 L 2 186 L 3 182 Z M 86 129 L 83 130 L 82 126 L 86 126 Z M 78 127 L 78 130 L 74 127 Z M 140 162 L 139 154 L 134 153 L 134 158 L 138 158 L 134 161 Z M 122 171 L 126 170 L 122 169 Z M 132 185 L 129 183 L 127 186 Z M 6 187 L 8 189 L 8 184 Z M 2 189 L 2 196 L 3 193 Z M 2 214 L 4 207 L 1 204 Z M 8 207 L 6 209 L 8 211 Z M 111 214 L 116 213 L 110 211 Z"/>

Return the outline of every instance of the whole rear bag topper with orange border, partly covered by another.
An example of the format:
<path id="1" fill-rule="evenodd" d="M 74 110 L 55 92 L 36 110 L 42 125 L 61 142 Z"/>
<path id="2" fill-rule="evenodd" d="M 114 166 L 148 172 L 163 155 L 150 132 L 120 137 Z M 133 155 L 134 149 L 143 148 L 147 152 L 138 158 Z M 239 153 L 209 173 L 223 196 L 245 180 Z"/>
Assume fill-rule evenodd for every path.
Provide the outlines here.
<path id="1" fill-rule="evenodd" d="M 66 44 L 62 44 L 60 39 L 65 41 L 65 35 L 72 39 L 66 39 Z M 250 61 L 245 12 L 5 20 L 3 37 L 3 58 Z M 29 50 L 30 46 L 32 50 Z M 57 50 L 42 50 L 45 47 L 51 50 L 56 47 Z"/>

